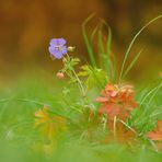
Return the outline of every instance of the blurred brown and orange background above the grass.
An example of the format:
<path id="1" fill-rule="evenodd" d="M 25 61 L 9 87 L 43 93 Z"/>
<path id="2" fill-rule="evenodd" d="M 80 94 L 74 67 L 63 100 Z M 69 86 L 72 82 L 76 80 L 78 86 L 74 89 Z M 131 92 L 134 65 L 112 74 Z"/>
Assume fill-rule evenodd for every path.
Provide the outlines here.
<path id="1" fill-rule="evenodd" d="M 26 71 L 56 72 L 60 61 L 48 53 L 49 39 L 65 37 L 86 59 L 81 24 L 92 13 L 92 30 L 105 19 L 113 32 L 118 67 L 132 36 L 151 19 L 162 14 L 162 0 L 0 0 L 0 86 Z M 129 73 L 130 80 L 153 80 L 162 70 L 162 20 L 150 25 L 132 50 L 143 48 Z"/>

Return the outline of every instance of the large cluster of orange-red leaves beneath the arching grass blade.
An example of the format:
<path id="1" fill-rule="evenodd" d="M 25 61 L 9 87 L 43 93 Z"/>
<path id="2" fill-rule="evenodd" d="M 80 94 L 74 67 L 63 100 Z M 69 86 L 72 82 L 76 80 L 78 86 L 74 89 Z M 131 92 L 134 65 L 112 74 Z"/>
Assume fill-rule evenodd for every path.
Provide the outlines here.
<path id="1" fill-rule="evenodd" d="M 99 112 L 107 114 L 111 120 L 115 116 L 126 120 L 130 112 L 137 107 L 137 103 L 134 101 L 134 90 L 130 85 L 119 86 L 108 83 L 102 91 L 102 96 L 97 97 L 96 101 L 102 103 Z"/>

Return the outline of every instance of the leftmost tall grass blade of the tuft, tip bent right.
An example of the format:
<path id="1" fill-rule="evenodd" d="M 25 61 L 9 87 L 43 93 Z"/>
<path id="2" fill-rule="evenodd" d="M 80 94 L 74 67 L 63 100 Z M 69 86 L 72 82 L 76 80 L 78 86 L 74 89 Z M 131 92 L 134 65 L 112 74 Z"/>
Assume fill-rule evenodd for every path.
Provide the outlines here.
<path id="1" fill-rule="evenodd" d="M 89 21 L 94 16 L 94 13 L 91 14 L 82 24 L 82 34 L 83 34 L 83 38 L 84 38 L 84 42 L 85 42 L 85 46 L 86 46 L 86 49 L 88 49 L 88 54 L 89 54 L 89 57 L 90 57 L 90 61 L 92 63 L 93 67 L 96 67 L 96 62 L 95 62 L 95 58 L 94 58 L 94 53 L 93 53 L 93 48 L 92 48 L 92 45 L 89 40 L 89 37 L 88 37 L 88 34 L 86 34 L 86 24 L 89 23 Z"/>

